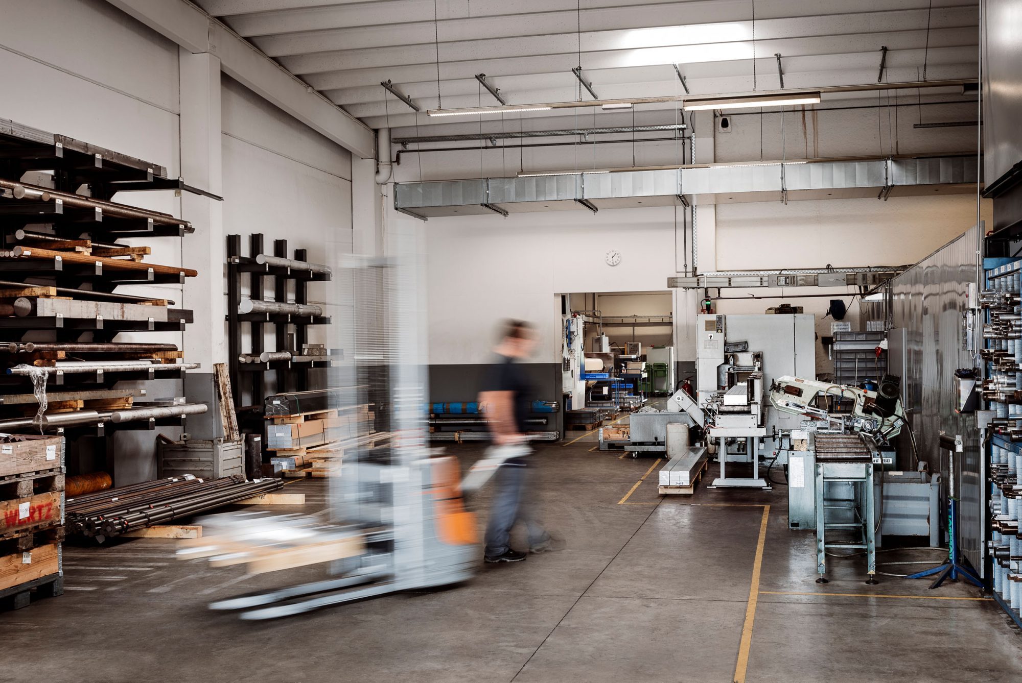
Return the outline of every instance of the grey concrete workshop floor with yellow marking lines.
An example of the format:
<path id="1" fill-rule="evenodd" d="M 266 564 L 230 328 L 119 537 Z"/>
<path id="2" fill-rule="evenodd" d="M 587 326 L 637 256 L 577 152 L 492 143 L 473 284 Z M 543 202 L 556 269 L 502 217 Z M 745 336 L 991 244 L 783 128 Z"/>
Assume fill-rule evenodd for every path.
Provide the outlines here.
<path id="1" fill-rule="evenodd" d="M 477 577 L 446 590 L 249 623 L 205 605 L 321 570 L 245 579 L 176 562 L 174 541 L 67 546 L 67 592 L 0 614 L 0 681 L 726 682 L 743 667 L 750 682 L 1022 679 L 1022 634 L 977 590 L 867 586 L 857 559 L 834 562 L 819 585 L 783 486 L 660 497 L 655 458 L 595 444 L 591 434 L 533 456 L 539 505 L 565 549 L 498 566 L 480 553 Z M 479 452 L 449 451 L 464 464 Z M 325 490 L 285 488 L 305 491 L 309 511 Z"/>

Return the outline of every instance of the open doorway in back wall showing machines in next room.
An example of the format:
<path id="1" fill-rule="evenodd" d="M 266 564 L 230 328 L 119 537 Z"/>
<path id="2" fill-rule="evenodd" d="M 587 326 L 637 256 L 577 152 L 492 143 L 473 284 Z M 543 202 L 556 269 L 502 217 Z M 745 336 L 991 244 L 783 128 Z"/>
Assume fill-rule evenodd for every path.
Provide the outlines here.
<path id="1" fill-rule="evenodd" d="M 659 407 L 679 384 L 671 292 L 576 292 L 562 300 L 566 422 Z"/>

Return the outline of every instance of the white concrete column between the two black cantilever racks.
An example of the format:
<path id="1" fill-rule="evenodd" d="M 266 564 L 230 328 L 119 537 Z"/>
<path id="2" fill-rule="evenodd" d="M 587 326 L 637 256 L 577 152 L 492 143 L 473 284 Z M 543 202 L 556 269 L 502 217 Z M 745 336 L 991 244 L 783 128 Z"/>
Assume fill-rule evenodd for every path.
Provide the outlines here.
<path id="1" fill-rule="evenodd" d="M 220 117 L 220 58 L 210 52 L 180 51 L 181 178 L 189 185 L 220 195 L 223 192 Z M 225 235 L 223 202 L 184 193 L 181 216 L 195 232 L 184 238 L 184 264 L 198 271 L 184 286 L 184 307 L 195 321 L 185 333 L 185 357 L 201 363 L 185 375 L 189 400 L 208 403 L 205 414 L 188 420 L 195 438 L 223 436 L 213 382 L 213 364 L 227 360 Z"/>

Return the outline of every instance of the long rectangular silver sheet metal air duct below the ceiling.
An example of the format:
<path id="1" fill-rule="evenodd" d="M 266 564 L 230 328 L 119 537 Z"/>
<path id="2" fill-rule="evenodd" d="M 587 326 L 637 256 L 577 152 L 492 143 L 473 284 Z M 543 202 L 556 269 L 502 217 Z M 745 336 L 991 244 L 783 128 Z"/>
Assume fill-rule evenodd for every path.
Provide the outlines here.
<path id="1" fill-rule="evenodd" d="M 681 168 L 565 173 L 396 183 L 394 208 L 416 217 L 975 192 L 975 155 L 721 163 Z"/>

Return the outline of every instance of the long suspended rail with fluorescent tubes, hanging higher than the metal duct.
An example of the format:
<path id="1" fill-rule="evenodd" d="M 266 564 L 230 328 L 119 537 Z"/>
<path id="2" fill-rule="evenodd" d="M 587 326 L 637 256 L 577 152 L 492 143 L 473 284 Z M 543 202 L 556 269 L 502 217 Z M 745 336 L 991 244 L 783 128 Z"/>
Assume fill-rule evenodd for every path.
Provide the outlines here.
<path id="1" fill-rule="evenodd" d="M 950 79 L 946 81 L 910 81 L 905 83 L 868 83 L 862 85 L 853 86 L 824 86 L 822 88 L 814 88 L 811 91 L 795 91 L 795 90 L 761 90 L 758 92 L 746 92 L 746 93 L 733 93 L 733 94 L 721 94 L 721 95 L 704 95 L 700 97 L 689 97 L 686 95 L 666 95 L 663 97 L 635 97 L 635 98 L 619 98 L 610 100 L 590 100 L 590 101 L 571 101 L 571 102 L 543 102 L 537 104 L 509 104 L 506 106 L 491 106 L 491 107 L 463 107 L 457 109 L 429 109 L 426 113 L 430 116 L 459 116 L 459 115 L 470 115 L 470 114 L 484 114 L 484 113 L 510 113 L 515 111 L 549 111 L 551 109 L 570 109 L 577 107 L 604 107 L 606 105 L 614 104 L 656 104 L 661 102 L 685 102 L 685 108 L 688 110 L 693 109 L 738 109 L 742 107 L 764 107 L 764 106 L 781 106 L 782 104 L 809 104 L 808 99 L 816 98 L 812 103 L 820 102 L 822 95 L 830 93 L 857 93 L 857 92 L 874 92 L 878 90 L 916 90 L 917 88 L 962 88 L 966 92 L 969 91 L 970 86 L 975 88 L 977 84 L 976 79 Z M 380 84 L 383 85 L 383 84 Z M 393 92 L 393 91 L 391 91 Z M 807 99 L 799 99 L 798 102 L 792 102 L 793 98 L 806 97 Z M 759 98 L 753 103 L 745 104 L 749 102 L 750 98 Z M 405 101 L 409 106 L 414 107 L 409 101 Z M 766 104 L 766 101 L 772 101 L 771 104 Z M 737 103 L 736 103 L 737 102 Z"/>

